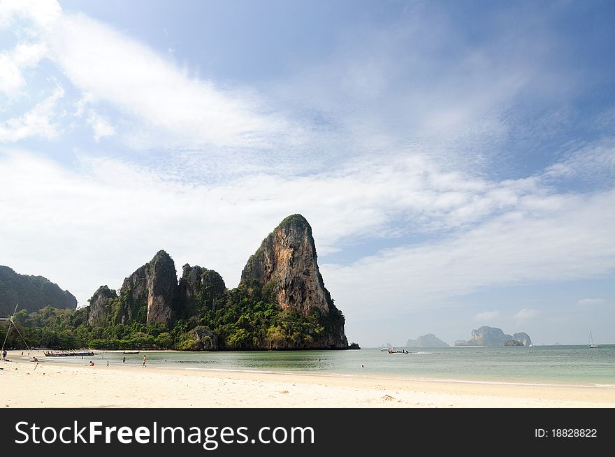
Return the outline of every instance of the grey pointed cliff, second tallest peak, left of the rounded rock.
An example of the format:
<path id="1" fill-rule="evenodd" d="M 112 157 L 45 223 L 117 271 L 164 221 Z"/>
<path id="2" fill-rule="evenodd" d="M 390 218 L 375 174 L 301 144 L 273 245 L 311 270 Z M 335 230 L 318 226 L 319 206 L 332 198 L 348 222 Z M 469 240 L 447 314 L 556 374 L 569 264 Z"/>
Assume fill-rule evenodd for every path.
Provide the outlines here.
<path id="1" fill-rule="evenodd" d="M 124 280 L 117 320 L 122 324 L 166 324 L 173 315 L 177 287 L 173 259 L 164 251 L 157 252 L 152 261 Z"/>

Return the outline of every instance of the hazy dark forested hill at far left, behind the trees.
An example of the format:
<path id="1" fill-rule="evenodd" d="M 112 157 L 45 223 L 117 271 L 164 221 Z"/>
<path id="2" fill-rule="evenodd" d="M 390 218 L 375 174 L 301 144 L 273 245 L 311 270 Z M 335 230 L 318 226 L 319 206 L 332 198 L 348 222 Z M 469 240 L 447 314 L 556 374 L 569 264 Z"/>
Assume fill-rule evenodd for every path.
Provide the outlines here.
<path id="1" fill-rule="evenodd" d="M 77 298 L 42 276 L 20 275 L 8 266 L 0 266 L 0 317 L 19 310 L 36 312 L 45 306 L 77 308 Z"/>

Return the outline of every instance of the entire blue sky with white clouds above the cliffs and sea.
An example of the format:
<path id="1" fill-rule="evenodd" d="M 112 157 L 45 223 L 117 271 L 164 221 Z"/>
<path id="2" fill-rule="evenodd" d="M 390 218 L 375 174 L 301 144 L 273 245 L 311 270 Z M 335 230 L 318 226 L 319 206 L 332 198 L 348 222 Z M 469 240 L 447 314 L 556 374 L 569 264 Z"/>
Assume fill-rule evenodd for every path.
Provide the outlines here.
<path id="1" fill-rule="evenodd" d="M 0 0 L 0 264 L 80 306 L 312 226 L 349 342 L 615 343 L 612 1 Z"/>

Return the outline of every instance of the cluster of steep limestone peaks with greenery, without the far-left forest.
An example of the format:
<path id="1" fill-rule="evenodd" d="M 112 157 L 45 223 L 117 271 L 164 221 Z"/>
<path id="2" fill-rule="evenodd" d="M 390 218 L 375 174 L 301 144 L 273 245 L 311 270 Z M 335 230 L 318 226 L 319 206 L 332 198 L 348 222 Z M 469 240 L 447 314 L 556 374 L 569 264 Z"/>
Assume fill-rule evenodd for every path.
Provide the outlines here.
<path id="1" fill-rule="evenodd" d="M 159 251 L 126 277 L 119 294 L 101 286 L 87 312 L 90 326 L 124 324 L 108 338 L 138 347 L 149 338 L 147 344 L 187 350 L 348 349 L 345 318 L 324 286 L 301 215 L 263 240 L 235 289 L 215 270 L 189 264 L 178 282 L 173 259 Z M 162 325 L 146 333 L 140 324 Z"/>

